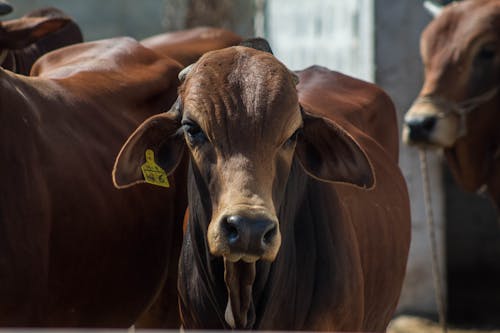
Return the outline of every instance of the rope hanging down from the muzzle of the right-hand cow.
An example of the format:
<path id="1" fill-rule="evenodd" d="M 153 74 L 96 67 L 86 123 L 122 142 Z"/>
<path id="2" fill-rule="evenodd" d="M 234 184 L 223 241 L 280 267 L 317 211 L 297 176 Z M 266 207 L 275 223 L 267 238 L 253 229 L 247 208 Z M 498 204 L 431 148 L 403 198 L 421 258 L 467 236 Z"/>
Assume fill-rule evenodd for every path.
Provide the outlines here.
<path id="1" fill-rule="evenodd" d="M 439 269 L 439 261 L 437 254 L 437 242 L 434 225 L 434 217 L 432 214 L 431 189 L 429 181 L 429 172 L 427 168 L 427 155 L 424 149 L 420 149 L 420 171 L 422 173 L 422 183 L 424 190 L 425 213 L 427 215 L 427 230 L 429 232 L 429 240 L 431 242 L 432 253 L 432 277 L 434 280 L 436 304 L 438 306 L 439 324 L 443 329 L 443 333 L 448 332 L 446 320 L 446 296 L 444 294 L 443 285 L 441 283 L 441 270 Z"/>

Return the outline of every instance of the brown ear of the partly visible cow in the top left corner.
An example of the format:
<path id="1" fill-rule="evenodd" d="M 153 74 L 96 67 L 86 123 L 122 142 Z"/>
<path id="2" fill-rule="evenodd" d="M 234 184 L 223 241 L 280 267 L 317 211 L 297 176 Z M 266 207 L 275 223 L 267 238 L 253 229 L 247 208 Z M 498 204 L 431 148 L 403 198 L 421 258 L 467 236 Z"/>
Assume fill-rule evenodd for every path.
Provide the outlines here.
<path id="1" fill-rule="evenodd" d="M 68 17 L 31 17 L 4 21 L 1 24 L 0 44 L 6 49 L 21 49 L 45 35 L 60 30 L 71 21 Z"/>

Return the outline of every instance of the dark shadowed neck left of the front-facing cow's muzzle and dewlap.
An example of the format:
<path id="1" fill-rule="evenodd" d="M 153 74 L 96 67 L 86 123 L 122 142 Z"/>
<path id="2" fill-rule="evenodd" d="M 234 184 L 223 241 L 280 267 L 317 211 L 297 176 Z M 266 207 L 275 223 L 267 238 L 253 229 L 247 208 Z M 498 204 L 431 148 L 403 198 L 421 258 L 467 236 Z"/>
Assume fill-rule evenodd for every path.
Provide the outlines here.
<path id="1" fill-rule="evenodd" d="M 188 170 L 189 220 L 179 262 L 179 302 L 184 328 L 230 328 L 224 320 L 226 291 L 222 259 L 208 251 L 210 194 L 197 168 Z"/>

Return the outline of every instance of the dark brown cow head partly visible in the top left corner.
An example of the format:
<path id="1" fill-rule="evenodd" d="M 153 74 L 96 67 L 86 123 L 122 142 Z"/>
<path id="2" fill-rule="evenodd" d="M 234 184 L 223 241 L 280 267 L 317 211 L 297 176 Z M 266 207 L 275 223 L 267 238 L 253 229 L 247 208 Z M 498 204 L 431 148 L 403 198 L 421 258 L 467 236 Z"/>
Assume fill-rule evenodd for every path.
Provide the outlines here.
<path id="1" fill-rule="evenodd" d="M 43 8 L 0 22 L 0 66 L 28 75 L 43 54 L 83 41 L 78 25 L 59 9 Z"/>

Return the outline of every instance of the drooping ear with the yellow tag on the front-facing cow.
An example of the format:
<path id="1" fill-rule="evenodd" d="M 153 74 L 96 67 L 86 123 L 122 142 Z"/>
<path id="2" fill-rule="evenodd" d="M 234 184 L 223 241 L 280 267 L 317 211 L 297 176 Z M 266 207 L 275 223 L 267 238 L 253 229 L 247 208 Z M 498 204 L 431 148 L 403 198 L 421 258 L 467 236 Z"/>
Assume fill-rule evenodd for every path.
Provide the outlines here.
<path id="1" fill-rule="evenodd" d="M 174 172 L 184 153 L 184 139 L 179 128 L 180 115 L 175 110 L 145 120 L 116 157 L 113 168 L 115 187 L 126 188 L 146 182 L 142 172 L 146 162 L 153 163 L 155 168 L 160 167 L 167 176 Z"/>

